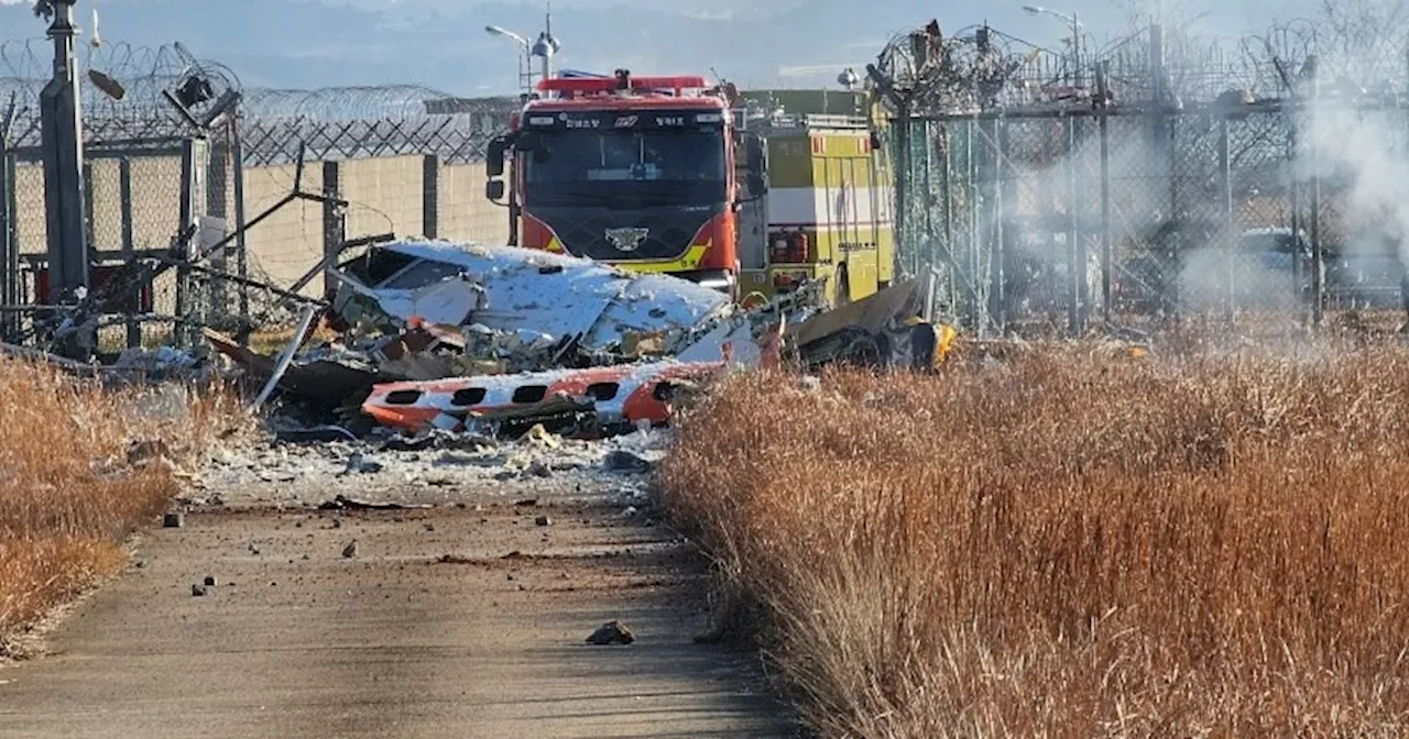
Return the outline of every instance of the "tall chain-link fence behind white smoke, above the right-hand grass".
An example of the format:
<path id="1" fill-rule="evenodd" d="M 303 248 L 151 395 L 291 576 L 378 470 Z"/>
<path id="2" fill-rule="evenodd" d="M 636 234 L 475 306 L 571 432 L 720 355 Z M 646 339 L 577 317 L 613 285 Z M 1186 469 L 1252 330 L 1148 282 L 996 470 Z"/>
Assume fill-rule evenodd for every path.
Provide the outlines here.
<path id="1" fill-rule="evenodd" d="M 1399 300 L 1405 108 L 933 115 L 892 137 L 902 267 L 937 269 L 965 327 Z"/>

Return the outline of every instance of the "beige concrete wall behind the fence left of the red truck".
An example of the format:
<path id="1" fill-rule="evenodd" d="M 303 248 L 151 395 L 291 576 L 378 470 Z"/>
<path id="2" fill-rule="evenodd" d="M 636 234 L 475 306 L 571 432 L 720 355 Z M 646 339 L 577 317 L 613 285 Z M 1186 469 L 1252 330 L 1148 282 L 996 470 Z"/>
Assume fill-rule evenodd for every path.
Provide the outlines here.
<path id="1" fill-rule="evenodd" d="M 348 238 L 393 232 L 397 236 L 426 234 L 426 198 L 434 197 L 437 235 L 452 241 L 503 244 L 509 236 L 509 214 L 485 200 L 483 165 L 440 165 L 434 182 L 426 182 L 426 158 L 389 156 L 337 163 L 338 190 L 349 201 Z M 117 252 L 123 248 L 123 208 L 117 159 L 89 162 L 93 191 L 93 248 Z M 269 166 L 245 170 L 245 218 L 254 220 L 293 190 L 296 168 Z M 303 190 L 323 191 L 324 165 L 309 162 L 303 169 Z M 44 170 L 34 162 L 17 166 L 18 236 L 23 253 L 44 253 Z M 180 220 L 180 158 L 131 159 L 132 241 L 137 249 L 162 249 L 170 244 Z M 220 187 L 211 183 L 213 187 Z M 218 200 L 218 196 L 217 196 Z M 234 187 L 225 183 L 228 222 L 234 222 Z M 279 286 L 292 284 L 323 258 L 323 206 L 296 200 L 255 225 L 247 234 L 251 276 Z M 231 266 L 232 269 L 232 266 Z M 306 293 L 317 294 L 321 280 Z"/>

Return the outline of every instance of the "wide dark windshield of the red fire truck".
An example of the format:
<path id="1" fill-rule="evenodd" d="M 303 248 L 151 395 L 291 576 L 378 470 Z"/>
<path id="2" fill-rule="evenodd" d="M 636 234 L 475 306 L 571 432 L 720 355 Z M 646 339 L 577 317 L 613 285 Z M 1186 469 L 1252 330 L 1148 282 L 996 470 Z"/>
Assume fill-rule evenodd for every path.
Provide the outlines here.
<path id="1" fill-rule="evenodd" d="M 554 131 L 524 159 L 526 204 L 709 204 L 727 191 L 720 128 Z"/>

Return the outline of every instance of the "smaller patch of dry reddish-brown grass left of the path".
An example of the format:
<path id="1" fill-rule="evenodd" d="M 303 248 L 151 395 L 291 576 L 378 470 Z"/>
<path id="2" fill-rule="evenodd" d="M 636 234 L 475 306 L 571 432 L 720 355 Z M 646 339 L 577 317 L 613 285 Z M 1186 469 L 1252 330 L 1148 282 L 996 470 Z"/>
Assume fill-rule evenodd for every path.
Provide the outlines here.
<path id="1" fill-rule="evenodd" d="M 7 636 L 125 562 L 123 539 L 176 490 L 170 465 L 127 465 L 128 443 L 178 460 L 238 422 L 218 389 L 104 391 L 0 362 L 0 656 Z"/>

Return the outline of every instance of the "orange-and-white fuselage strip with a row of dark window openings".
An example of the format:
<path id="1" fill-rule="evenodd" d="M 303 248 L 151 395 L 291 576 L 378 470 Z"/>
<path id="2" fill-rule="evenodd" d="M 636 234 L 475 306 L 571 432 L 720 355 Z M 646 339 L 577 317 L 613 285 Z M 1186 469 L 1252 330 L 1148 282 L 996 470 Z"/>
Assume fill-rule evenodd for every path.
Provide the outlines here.
<path id="1" fill-rule="evenodd" d="M 458 377 L 431 383 L 380 384 L 362 405 L 386 427 L 421 432 L 461 431 L 476 419 L 588 411 L 604 434 L 669 421 L 679 386 L 717 376 L 719 362 L 655 362 L 585 370 Z"/>

